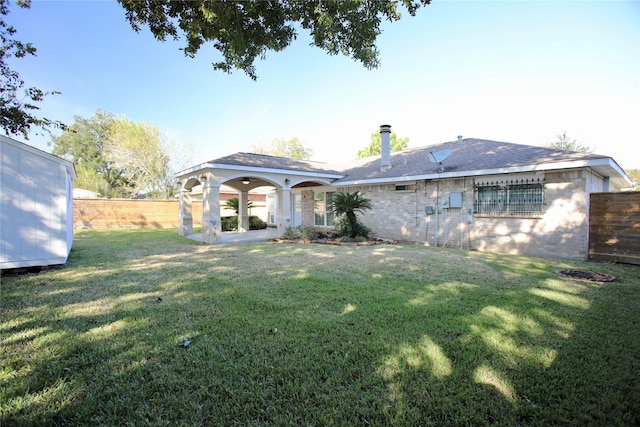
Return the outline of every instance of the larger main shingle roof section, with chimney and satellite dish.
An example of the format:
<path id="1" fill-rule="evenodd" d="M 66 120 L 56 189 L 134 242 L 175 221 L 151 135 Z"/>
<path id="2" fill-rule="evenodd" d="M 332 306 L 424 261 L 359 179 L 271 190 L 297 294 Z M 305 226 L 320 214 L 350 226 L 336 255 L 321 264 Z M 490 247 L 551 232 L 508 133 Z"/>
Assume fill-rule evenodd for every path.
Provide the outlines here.
<path id="1" fill-rule="evenodd" d="M 467 138 L 391 153 L 391 167 L 384 171 L 380 170 L 380 156 L 361 159 L 360 164 L 346 168 L 344 178 L 336 181 L 336 184 L 437 174 L 440 165 L 430 160 L 430 152 L 442 150 L 451 150 L 451 154 L 442 162 L 444 172 L 458 173 L 608 158 L 599 154 Z"/>

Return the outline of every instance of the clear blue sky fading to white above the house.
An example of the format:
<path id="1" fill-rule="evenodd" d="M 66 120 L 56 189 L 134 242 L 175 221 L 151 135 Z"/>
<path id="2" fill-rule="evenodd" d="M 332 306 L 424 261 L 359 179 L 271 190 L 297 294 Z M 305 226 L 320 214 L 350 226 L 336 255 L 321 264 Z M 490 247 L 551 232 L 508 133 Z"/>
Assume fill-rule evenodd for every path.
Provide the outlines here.
<path id="1" fill-rule="evenodd" d="M 257 81 L 213 71 L 213 47 L 191 59 L 181 41 L 135 33 L 116 2 L 12 4 L 7 22 L 38 49 L 13 63 L 26 84 L 62 92 L 43 115 L 153 122 L 194 163 L 292 137 L 339 163 L 388 123 L 412 147 L 458 135 L 543 145 L 566 131 L 640 168 L 640 2 L 433 0 L 404 15 L 383 27 L 378 69 L 300 33 L 256 63 Z M 50 151 L 48 140 L 28 143 Z"/>

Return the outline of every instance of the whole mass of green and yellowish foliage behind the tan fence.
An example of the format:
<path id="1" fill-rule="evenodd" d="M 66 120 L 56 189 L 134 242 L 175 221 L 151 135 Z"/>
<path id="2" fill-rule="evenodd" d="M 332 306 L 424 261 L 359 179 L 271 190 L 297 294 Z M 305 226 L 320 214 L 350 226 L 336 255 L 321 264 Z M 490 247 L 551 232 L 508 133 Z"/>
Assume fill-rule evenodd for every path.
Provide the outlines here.
<path id="1" fill-rule="evenodd" d="M 52 153 L 72 161 L 77 185 L 104 197 L 158 199 L 175 194 L 170 167 L 171 143 L 154 124 L 134 123 L 97 111 L 90 119 L 74 117 L 59 137 L 51 136 Z"/>

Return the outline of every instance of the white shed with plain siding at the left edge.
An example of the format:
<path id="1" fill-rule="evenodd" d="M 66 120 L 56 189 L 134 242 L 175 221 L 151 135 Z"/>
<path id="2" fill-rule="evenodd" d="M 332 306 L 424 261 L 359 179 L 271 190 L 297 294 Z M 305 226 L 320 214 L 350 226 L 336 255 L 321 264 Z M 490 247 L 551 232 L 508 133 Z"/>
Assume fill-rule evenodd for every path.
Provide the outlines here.
<path id="1" fill-rule="evenodd" d="M 0 269 L 64 264 L 73 243 L 73 163 L 0 135 Z"/>

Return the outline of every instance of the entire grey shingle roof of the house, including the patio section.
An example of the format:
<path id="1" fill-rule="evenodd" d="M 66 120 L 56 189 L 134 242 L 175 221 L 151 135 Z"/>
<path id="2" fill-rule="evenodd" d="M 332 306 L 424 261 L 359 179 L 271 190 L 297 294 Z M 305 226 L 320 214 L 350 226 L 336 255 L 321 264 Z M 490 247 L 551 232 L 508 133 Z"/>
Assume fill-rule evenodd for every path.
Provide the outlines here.
<path id="1" fill-rule="evenodd" d="M 430 153 L 442 150 L 451 150 L 451 154 L 442 162 L 443 170 L 440 171 L 440 165 L 430 160 Z M 594 170 L 603 176 L 611 176 L 620 187 L 627 184 L 624 171 L 609 156 L 476 138 L 391 153 L 391 167 L 382 171 L 380 162 L 380 156 L 372 156 L 338 166 L 264 154 L 235 153 L 211 160 L 206 164 L 296 171 L 302 174 L 316 173 L 326 175 L 328 178 L 338 178 L 334 181 L 335 185 L 390 182 L 394 179 L 403 181 L 462 177 L 515 172 L 520 168 L 522 168 L 521 171 L 553 169 L 554 164 L 557 164 L 558 168 L 594 166 Z M 575 166 L 567 165 L 570 162 L 575 162 Z"/>

